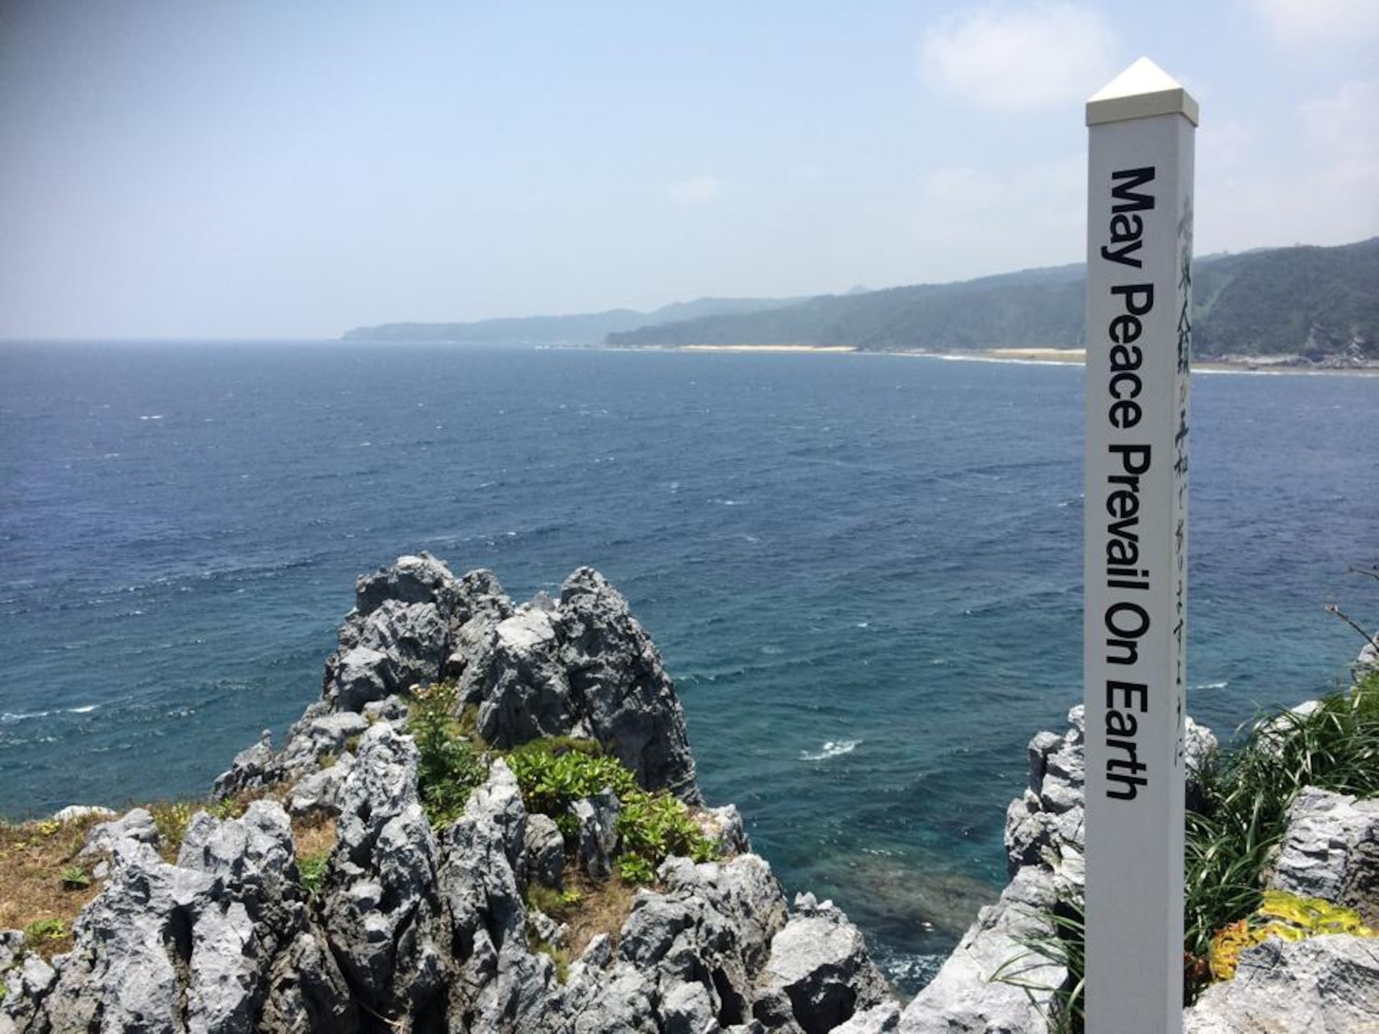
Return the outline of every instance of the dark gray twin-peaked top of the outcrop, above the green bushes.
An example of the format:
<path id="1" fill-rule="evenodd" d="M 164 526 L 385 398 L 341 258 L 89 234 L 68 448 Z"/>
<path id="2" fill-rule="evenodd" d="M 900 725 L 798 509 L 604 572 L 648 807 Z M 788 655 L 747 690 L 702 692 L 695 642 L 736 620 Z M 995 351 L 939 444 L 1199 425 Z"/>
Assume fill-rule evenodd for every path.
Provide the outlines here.
<path id="1" fill-rule="evenodd" d="M 477 711 L 479 735 L 495 747 L 594 739 L 648 790 L 702 801 L 674 685 L 603 575 L 579 568 L 558 601 L 538 596 L 514 607 L 492 574 L 455 578 L 426 553 L 359 579 L 321 699 L 280 751 L 265 732 L 239 754 L 215 795 L 310 776 L 352 753 L 370 721 L 400 725 L 414 685 L 443 680 L 456 682 L 461 702 Z M 310 787 L 310 805 L 327 807 L 336 783 Z"/>

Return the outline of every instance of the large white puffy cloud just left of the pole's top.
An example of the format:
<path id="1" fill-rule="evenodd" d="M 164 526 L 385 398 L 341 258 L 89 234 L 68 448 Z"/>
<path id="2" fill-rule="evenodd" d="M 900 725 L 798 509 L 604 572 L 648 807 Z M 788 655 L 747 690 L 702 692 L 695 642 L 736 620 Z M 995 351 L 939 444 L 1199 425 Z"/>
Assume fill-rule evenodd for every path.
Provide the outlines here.
<path id="1" fill-rule="evenodd" d="M 986 108 L 1083 101 L 1111 77 L 1116 37 L 1099 11 L 1066 3 L 982 10 L 932 29 L 920 47 L 925 76 Z"/>

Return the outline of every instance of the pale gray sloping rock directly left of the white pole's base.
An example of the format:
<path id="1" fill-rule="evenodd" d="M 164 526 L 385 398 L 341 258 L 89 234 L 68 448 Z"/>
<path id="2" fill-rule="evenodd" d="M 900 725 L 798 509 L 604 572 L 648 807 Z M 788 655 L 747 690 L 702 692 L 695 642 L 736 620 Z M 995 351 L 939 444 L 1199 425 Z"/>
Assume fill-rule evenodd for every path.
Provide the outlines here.
<path id="1" fill-rule="evenodd" d="M 1067 971 L 1034 954 L 1023 942 L 1054 933 L 1055 903 L 1048 871 L 1036 866 L 1018 870 L 1000 902 L 982 909 L 943 968 L 906 1006 L 899 1030 L 903 1034 L 1044 1031 L 1043 1013 L 1051 1008 L 1054 991 Z M 1027 993 L 1026 987 L 993 980 L 997 973 L 1041 990 Z"/>

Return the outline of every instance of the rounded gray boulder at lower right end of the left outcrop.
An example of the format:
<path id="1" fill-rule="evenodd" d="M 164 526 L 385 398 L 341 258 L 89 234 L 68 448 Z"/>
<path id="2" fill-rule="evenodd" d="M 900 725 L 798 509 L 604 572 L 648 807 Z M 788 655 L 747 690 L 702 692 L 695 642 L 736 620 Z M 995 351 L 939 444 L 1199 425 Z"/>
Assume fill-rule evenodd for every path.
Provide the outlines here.
<path id="1" fill-rule="evenodd" d="M 805 1034 L 825 1034 L 855 1012 L 887 1002 L 885 977 L 847 915 L 811 893 L 798 895 L 794 907 L 796 914 L 771 940 L 764 983 L 785 993 Z"/>

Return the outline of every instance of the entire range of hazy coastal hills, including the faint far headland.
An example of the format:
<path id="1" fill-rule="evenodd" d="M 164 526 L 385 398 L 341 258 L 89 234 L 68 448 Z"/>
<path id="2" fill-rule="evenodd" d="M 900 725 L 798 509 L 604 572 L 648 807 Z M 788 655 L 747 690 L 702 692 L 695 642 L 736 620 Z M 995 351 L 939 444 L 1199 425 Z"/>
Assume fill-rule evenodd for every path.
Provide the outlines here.
<path id="1" fill-rule="evenodd" d="M 1201 358 L 1379 361 L 1379 237 L 1340 245 L 1218 252 L 1194 262 Z M 1085 266 L 1022 269 L 946 284 L 797 298 L 698 298 L 651 312 L 357 327 L 345 341 L 848 346 L 860 352 L 1078 349 Z"/>

